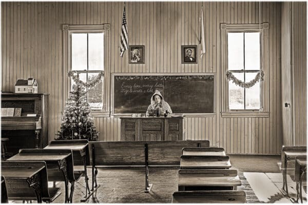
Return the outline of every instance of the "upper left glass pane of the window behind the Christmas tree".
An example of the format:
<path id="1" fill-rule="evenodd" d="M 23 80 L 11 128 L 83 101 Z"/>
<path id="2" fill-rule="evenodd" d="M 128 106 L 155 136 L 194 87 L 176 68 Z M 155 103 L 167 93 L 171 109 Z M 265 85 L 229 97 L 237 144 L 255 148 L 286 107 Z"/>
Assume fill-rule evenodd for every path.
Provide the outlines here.
<path id="1" fill-rule="evenodd" d="M 87 70 L 87 34 L 72 33 L 72 70 Z"/>

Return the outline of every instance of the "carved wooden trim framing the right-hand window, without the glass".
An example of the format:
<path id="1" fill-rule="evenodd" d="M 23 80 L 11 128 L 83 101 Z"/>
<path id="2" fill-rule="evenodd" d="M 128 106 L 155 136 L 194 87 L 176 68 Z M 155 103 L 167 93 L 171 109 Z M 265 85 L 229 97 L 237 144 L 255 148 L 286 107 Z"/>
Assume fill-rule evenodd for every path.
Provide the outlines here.
<path id="1" fill-rule="evenodd" d="M 232 117 L 240 113 L 241 116 L 269 116 L 269 84 L 268 84 L 268 23 L 262 24 L 220 24 L 221 31 L 221 115 Z M 261 35 L 261 69 L 264 72 L 264 80 L 260 88 L 261 109 L 230 111 L 228 109 L 228 80 L 226 71 L 228 70 L 227 55 L 227 33 L 228 32 L 260 32 Z"/>

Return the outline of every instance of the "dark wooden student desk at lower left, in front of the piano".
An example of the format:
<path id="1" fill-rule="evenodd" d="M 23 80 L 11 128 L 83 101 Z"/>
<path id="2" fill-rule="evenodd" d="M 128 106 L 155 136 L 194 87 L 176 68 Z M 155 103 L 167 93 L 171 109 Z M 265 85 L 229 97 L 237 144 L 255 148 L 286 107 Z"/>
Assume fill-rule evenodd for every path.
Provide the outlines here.
<path id="1" fill-rule="evenodd" d="M 7 181 L 8 198 L 12 200 L 33 198 L 33 190 L 37 203 L 42 203 L 42 198 L 49 197 L 44 161 L 3 161 L 1 171 Z"/>

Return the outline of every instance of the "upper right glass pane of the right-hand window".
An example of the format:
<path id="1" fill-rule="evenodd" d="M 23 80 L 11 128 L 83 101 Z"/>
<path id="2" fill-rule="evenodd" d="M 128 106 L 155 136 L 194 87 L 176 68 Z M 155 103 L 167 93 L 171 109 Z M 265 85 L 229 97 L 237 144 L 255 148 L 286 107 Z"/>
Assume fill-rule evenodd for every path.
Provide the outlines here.
<path id="1" fill-rule="evenodd" d="M 260 70 L 260 33 L 245 33 L 245 70 Z"/>

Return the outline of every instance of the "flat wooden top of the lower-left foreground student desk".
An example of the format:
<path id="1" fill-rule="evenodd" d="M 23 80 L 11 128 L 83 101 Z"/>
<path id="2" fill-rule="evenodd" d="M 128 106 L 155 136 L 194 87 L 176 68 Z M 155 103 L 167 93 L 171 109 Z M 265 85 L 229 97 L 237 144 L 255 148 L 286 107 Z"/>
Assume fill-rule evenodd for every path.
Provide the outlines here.
<path id="1" fill-rule="evenodd" d="M 40 172 L 45 166 L 7 167 L 1 166 L 1 174 L 6 178 L 30 178 Z"/>

